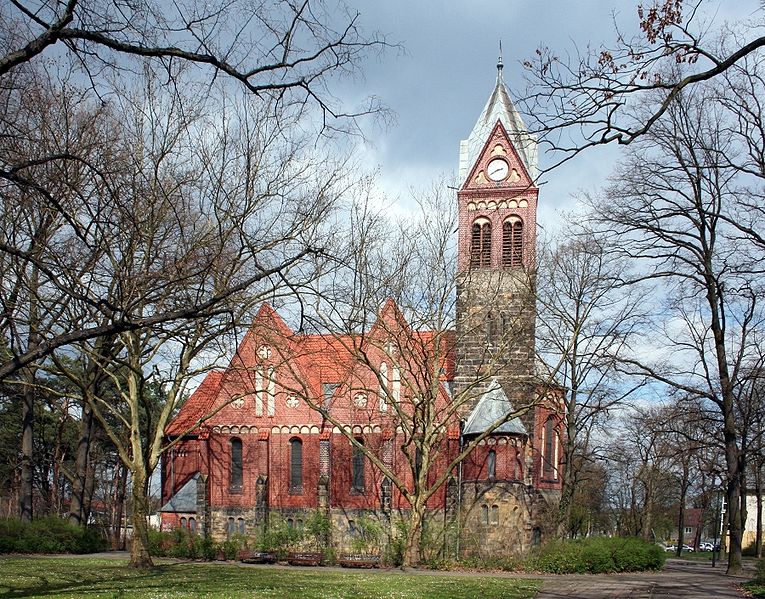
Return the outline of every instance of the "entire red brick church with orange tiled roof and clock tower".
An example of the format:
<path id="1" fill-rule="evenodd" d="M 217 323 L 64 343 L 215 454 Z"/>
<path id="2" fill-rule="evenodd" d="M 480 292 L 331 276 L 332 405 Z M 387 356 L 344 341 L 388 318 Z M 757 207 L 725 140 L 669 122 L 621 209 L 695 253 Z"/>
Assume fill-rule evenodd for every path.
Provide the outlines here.
<path id="1" fill-rule="evenodd" d="M 560 496 L 562 414 L 534 351 L 536 176 L 500 62 L 460 145 L 456 330 L 413 330 L 388 301 L 362 334 L 311 335 L 263 305 L 166 430 L 180 441 L 162 464 L 163 527 L 257 538 L 319 510 L 342 549 L 360 518 L 393 531 L 410 508 L 400 485 L 426 468 L 421 480 L 444 481 L 429 522 L 456 530 L 461 553 L 538 543 Z M 423 402 L 440 431 L 427 454 L 412 441 Z"/>

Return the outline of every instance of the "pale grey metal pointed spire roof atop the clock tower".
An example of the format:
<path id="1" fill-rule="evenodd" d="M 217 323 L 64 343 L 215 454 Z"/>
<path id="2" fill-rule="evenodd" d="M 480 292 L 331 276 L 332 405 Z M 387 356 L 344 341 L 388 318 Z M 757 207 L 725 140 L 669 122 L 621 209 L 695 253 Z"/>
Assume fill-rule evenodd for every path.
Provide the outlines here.
<path id="1" fill-rule="evenodd" d="M 497 83 L 494 86 L 489 101 L 478 117 L 470 136 L 460 142 L 460 183 L 464 183 L 470 169 L 478 159 L 492 129 L 500 121 L 515 146 L 518 155 L 529 173 L 532 181 L 536 181 L 537 170 L 537 139 L 529 133 L 526 125 L 515 108 L 507 86 L 502 79 L 502 60 L 497 64 Z"/>

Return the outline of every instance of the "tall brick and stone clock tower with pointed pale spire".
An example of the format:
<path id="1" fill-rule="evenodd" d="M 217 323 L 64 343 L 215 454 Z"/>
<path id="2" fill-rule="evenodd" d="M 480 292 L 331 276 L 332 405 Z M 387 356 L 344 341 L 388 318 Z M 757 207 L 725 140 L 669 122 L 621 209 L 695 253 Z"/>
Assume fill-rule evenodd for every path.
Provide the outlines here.
<path id="1" fill-rule="evenodd" d="M 537 142 L 497 81 L 460 143 L 455 392 L 475 405 L 496 379 L 515 407 L 534 394 Z"/>

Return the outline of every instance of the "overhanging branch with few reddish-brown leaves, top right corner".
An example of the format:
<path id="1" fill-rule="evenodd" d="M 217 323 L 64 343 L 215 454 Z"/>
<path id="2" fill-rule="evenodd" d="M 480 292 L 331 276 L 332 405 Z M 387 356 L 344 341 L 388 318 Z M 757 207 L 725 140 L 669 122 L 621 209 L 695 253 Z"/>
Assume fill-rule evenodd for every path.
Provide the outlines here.
<path id="1" fill-rule="evenodd" d="M 632 143 L 686 91 L 728 76 L 765 46 L 762 7 L 735 33 L 712 25 L 706 7 L 715 10 L 704 0 L 638 3 L 639 33 L 615 25 L 613 44 L 540 47 L 524 62 L 528 87 L 519 105 L 541 142 L 559 152 L 558 163 L 596 145 Z"/>

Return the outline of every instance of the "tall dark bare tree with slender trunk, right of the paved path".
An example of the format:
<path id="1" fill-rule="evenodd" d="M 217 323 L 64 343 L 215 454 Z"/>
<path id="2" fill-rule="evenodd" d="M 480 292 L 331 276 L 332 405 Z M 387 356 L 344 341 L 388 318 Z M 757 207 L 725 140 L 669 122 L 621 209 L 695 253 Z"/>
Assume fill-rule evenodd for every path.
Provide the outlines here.
<path id="1" fill-rule="evenodd" d="M 650 333 L 651 346 L 665 355 L 623 363 L 719 411 L 731 525 L 728 571 L 737 573 L 742 454 L 734 391 L 762 315 L 756 246 L 742 246 L 739 229 L 730 225 L 740 206 L 738 171 L 720 156 L 735 156 L 739 148 L 723 123 L 701 89 L 670 104 L 629 150 L 606 199 L 595 203 L 594 219 L 617 255 L 645 268 L 635 282 L 665 286 Z"/>

